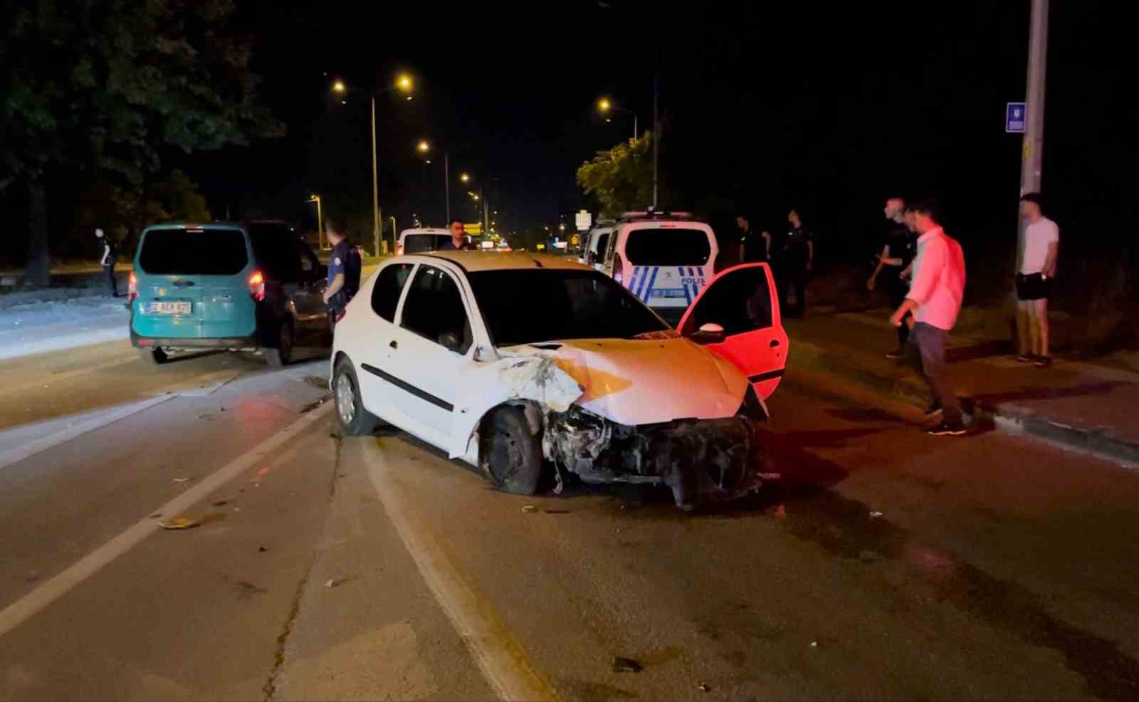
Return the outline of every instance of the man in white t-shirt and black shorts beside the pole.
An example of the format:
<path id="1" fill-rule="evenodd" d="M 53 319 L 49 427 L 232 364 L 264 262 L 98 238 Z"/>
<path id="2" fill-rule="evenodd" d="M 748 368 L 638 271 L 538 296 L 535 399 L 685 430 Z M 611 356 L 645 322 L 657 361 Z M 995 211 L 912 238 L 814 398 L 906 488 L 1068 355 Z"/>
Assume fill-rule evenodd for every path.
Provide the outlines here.
<path id="1" fill-rule="evenodd" d="M 1016 328 L 1019 353 L 1016 360 L 1040 368 L 1052 365 L 1048 354 L 1048 292 L 1056 277 L 1056 258 L 1060 246 L 1060 228 L 1044 217 L 1039 193 L 1021 197 L 1024 251 L 1016 271 Z"/>

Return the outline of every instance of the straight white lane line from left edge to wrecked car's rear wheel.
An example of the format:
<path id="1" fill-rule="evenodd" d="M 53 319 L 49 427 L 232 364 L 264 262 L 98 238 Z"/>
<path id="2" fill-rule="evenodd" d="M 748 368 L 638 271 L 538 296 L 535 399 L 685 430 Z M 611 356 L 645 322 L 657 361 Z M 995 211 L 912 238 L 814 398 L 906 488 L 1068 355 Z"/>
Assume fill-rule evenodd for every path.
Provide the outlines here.
<path id="1" fill-rule="evenodd" d="M 306 416 L 301 417 L 289 426 L 265 439 L 249 451 L 214 471 L 202 482 L 189 488 L 165 505 L 147 512 L 147 515 L 155 512 L 161 512 L 165 515 L 175 515 L 192 507 L 195 503 L 200 501 L 218 488 L 237 477 L 243 471 L 251 468 L 267 455 L 279 449 L 289 439 L 312 426 L 314 422 L 323 418 L 329 409 L 331 409 L 331 402 L 312 410 Z M 133 526 L 126 529 L 126 531 L 83 556 L 40 587 L 5 607 L 0 611 L 0 636 L 11 631 L 25 619 L 62 597 L 69 589 L 97 573 L 104 565 L 123 555 L 142 541 L 142 539 L 158 531 L 158 529 L 156 520 L 151 520 L 149 516 L 142 517 Z"/>

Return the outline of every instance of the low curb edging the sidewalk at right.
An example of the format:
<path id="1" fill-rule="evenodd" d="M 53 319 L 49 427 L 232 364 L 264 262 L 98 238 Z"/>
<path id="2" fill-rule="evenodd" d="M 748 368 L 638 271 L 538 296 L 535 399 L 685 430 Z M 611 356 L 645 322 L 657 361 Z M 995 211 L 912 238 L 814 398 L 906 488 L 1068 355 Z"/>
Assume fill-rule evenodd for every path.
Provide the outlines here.
<path id="1" fill-rule="evenodd" d="M 792 362 L 918 405 L 926 405 L 931 400 L 924 383 L 853 366 L 842 354 L 802 338 L 795 340 Z M 1123 439 L 1096 427 L 1060 422 L 1014 402 L 977 402 L 967 395 L 959 397 L 959 400 L 961 410 L 970 415 L 974 422 L 981 421 L 1005 432 L 1051 441 L 1075 451 L 1139 465 L 1139 441 Z"/>

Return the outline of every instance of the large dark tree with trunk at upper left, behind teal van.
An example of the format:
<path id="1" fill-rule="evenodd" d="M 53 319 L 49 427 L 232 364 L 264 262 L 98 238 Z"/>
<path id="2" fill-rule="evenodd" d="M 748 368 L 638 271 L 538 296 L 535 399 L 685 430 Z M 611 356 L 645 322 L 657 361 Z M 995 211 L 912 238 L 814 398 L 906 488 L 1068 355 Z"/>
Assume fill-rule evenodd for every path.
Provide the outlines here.
<path id="1" fill-rule="evenodd" d="M 30 283 L 47 283 L 54 172 L 137 186 L 165 149 L 284 133 L 257 103 L 233 9 L 233 0 L 36 0 L 0 10 L 0 189 L 27 189 Z"/>

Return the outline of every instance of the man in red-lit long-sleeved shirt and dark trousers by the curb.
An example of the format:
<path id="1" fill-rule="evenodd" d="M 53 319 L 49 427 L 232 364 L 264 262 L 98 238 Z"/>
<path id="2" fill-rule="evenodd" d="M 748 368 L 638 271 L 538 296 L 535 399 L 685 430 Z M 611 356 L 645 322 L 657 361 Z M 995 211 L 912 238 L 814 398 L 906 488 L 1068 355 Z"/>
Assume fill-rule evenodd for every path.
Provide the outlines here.
<path id="1" fill-rule="evenodd" d="M 932 203 L 915 202 L 907 206 L 918 237 L 917 256 L 913 259 L 913 284 L 906 300 L 894 311 L 890 321 L 904 324 L 906 315 L 913 313 L 910 342 L 921 356 L 921 370 L 933 394 L 926 416 L 942 415 L 937 426 L 926 430 L 934 436 L 959 436 L 966 432 L 961 408 L 949 379 L 945 365 L 945 338 L 957 323 L 965 293 L 965 254 L 961 245 L 951 239 L 937 223 L 936 207 Z"/>

